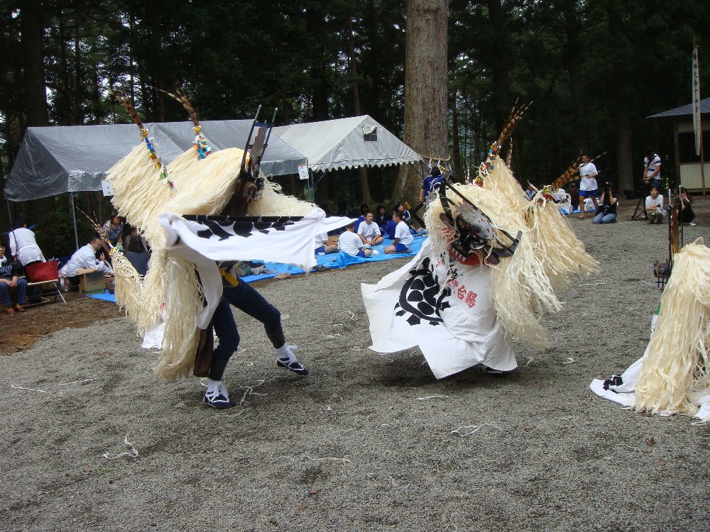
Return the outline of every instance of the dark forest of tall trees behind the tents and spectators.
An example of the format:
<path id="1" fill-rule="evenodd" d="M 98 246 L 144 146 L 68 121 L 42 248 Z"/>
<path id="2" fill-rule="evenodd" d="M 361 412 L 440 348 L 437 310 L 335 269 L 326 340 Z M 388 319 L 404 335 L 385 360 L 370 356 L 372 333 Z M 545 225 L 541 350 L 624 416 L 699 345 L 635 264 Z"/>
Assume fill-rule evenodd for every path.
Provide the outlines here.
<path id="1" fill-rule="evenodd" d="M 278 107 L 277 125 L 368 114 L 403 138 L 408 7 L 440 16 L 446 35 L 444 57 L 423 76 L 440 78 L 448 153 L 415 149 L 450 155 L 459 178 L 475 174 L 518 100 L 532 102 L 513 137 L 520 182 L 550 183 L 581 151 L 606 152 L 596 161 L 601 178 L 633 189 L 645 146 L 674 168 L 672 128 L 645 117 L 690 103 L 694 40 L 701 90 L 710 87 L 705 1 L 0 0 L 0 182 L 29 126 L 129 122 L 114 87 L 146 121 L 187 123 L 151 88 L 184 87 L 204 120 L 251 118 L 261 104 L 269 115 Z M 414 203 L 395 191 L 397 177 L 393 167 L 368 169 L 361 187 L 357 170 L 337 172 L 317 202 Z M 279 182 L 302 194 L 297 179 Z M 99 193 L 76 201 L 110 214 Z M 73 250 L 67 196 L 3 207 L 0 230 L 10 214 L 38 225 L 45 254 Z"/>

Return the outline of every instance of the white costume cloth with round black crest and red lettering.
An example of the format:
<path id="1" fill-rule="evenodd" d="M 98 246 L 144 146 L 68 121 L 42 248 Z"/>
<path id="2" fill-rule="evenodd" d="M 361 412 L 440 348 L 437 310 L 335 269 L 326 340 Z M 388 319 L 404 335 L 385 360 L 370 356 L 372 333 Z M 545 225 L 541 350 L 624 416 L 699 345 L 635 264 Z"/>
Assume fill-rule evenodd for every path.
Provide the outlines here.
<path id="1" fill-rule="evenodd" d="M 361 285 L 371 350 L 419 345 L 437 379 L 476 364 L 514 370 L 513 342 L 493 308 L 489 277 L 486 266 L 447 267 L 427 239 L 407 265 L 376 285 Z"/>

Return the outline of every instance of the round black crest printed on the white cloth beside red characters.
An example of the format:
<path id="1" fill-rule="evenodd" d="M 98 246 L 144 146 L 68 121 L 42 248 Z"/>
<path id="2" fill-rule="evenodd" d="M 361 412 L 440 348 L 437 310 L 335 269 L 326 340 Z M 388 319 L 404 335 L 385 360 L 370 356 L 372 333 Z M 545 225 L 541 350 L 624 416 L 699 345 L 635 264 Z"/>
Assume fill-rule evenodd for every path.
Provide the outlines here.
<path id="1" fill-rule="evenodd" d="M 449 308 L 449 303 L 443 301 L 451 289 L 439 292 L 439 280 L 430 268 L 429 258 L 422 260 L 420 265 L 410 270 L 410 279 L 407 279 L 400 290 L 400 297 L 395 304 L 395 314 L 404 316 L 410 314 L 407 323 L 419 325 L 422 321 L 432 326 L 442 323 L 440 312 Z M 437 297 L 438 295 L 438 297 Z"/>

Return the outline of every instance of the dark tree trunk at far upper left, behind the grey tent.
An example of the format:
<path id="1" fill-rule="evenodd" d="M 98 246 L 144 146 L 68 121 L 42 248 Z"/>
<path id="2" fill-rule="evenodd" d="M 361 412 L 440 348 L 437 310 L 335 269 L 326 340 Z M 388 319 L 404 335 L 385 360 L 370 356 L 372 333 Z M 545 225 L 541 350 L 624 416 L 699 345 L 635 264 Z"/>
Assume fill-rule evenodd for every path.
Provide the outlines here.
<path id="1" fill-rule="evenodd" d="M 47 126 L 47 88 L 42 48 L 43 9 L 40 0 L 25 0 L 20 10 L 20 50 L 23 59 L 27 126 Z"/>

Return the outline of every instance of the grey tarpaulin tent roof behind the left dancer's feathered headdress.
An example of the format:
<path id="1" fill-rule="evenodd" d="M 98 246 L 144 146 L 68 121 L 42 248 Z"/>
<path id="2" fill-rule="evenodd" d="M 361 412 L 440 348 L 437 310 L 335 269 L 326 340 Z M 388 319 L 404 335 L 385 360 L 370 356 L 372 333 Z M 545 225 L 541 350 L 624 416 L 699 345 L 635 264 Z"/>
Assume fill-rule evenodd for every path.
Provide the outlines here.
<path id="1" fill-rule="evenodd" d="M 202 121 L 200 125 L 212 149 L 223 150 L 244 148 L 251 123 L 251 120 L 218 120 Z M 158 155 L 168 165 L 192 146 L 191 122 L 144 126 L 155 140 Z M 5 185 L 5 196 L 11 201 L 23 201 L 65 192 L 101 190 L 104 173 L 139 142 L 135 124 L 28 128 Z M 266 174 L 295 174 L 298 165 L 306 162 L 304 155 L 276 135 L 271 135 L 268 144 L 261 162 L 261 170 Z"/>

